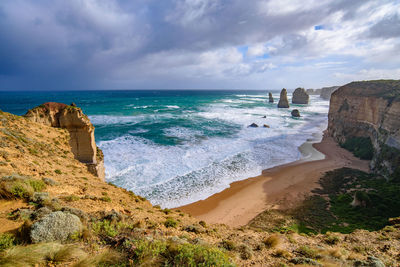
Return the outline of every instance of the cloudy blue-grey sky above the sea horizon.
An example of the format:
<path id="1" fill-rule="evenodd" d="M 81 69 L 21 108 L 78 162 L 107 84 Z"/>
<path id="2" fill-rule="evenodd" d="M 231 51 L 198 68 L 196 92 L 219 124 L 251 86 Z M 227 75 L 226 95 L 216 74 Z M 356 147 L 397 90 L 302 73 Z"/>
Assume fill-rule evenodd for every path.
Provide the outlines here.
<path id="1" fill-rule="evenodd" d="M 398 0 L 1 0 L 0 90 L 400 79 Z"/>

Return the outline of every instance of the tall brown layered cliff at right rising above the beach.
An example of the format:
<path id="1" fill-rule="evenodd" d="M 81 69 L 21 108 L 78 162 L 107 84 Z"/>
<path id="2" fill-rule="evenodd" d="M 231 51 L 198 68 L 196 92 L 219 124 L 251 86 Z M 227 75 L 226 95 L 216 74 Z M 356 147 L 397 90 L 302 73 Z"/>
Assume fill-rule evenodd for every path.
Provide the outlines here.
<path id="1" fill-rule="evenodd" d="M 352 82 L 330 100 L 328 131 L 338 142 L 369 137 L 371 169 L 391 174 L 400 166 L 400 80 Z"/>

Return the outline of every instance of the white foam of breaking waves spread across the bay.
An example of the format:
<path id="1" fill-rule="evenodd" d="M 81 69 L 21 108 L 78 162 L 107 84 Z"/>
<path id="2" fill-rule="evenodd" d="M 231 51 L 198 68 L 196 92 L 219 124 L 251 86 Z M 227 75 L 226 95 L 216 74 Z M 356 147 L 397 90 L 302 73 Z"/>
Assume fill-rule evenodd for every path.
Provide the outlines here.
<path id="1" fill-rule="evenodd" d="M 195 116 L 192 120 L 223 121 L 225 125 L 238 127 L 229 137 L 206 138 L 202 130 L 176 126 L 163 129 L 164 135 L 188 142 L 159 145 L 130 135 L 100 142 L 107 180 L 146 196 L 153 204 L 176 207 L 204 199 L 233 181 L 259 175 L 265 168 L 300 159 L 302 155 L 297 148 L 327 125 L 328 102 L 314 96 L 310 105 L 292 106 L 300 110 L 299 119 L 291 117 L 292 107 L 278 109 L 275 104 L 273 108 L 266 104 L 238 108 L 235 101 L 218 101 L 189 115 Z M 92 116 L 91 119 L 99 124 L 134 123 L 143 119 L 136 117 Z M 261 127 L 249 128 L 253 122 Z M 270 128 L 263 128 L 263 124 Z M 207 131 L 212 127 L 205 125 L 202 129 Z M 196 136 L 205 138 L 194 142 Z"/>

